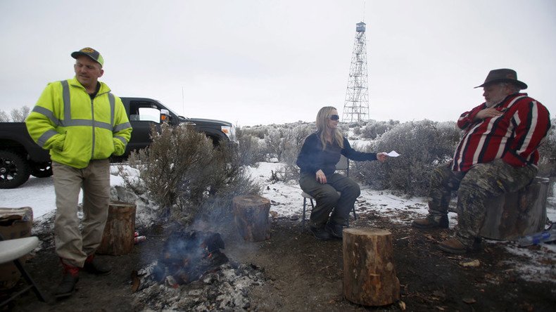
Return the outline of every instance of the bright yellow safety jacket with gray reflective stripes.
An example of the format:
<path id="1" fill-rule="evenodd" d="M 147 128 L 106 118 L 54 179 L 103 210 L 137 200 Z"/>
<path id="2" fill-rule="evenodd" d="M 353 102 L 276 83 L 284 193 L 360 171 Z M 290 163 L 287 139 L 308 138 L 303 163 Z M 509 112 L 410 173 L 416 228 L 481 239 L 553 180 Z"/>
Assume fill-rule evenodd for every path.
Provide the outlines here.
<path id="1" fill-rule="evenodd" d="M 25 124 L 52 161 L 77 169 L 122 155 L 132 133 L 122 100 L 106 84 L 91 100 L 75 77 L 48 84 Z"/>

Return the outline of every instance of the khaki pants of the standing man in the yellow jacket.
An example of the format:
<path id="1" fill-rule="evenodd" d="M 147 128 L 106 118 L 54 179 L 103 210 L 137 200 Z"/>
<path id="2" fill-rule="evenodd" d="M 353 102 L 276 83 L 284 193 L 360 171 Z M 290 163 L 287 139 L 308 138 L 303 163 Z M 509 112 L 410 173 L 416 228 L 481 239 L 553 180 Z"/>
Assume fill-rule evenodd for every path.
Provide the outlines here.
<path id="1" fill-rule="evenodd" d="M 82 268 L 87 256 L 101 244 L 110 204 L 110 162 L 91 160 L 84 169 L 52 163 L 56 192 L 54 238 L 56 254 L 65 264 Z M 77 205 L 83 188 L 83 229 Z"/>

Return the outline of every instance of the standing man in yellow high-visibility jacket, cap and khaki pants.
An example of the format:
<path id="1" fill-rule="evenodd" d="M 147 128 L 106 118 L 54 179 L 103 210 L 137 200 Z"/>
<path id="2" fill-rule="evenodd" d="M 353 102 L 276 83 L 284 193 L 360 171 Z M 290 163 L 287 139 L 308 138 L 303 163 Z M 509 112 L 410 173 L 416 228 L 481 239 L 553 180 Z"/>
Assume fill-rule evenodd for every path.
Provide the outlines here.
<path id="1" fill-rule="evenodd" d="M 46 86 L 25 124 L 37 144 L 50 150 L 56 220 L 56 254 L 63 278 L 55 296 L 68 297 L 75 289 L 81 269 L 108 274 L 99 262 L 99 247 L 110 201 L 110 155 L 122 155 L 131 136 L 120 98 L 99 78 L 104 60 L 93 48 L 71 53 L 75 77 Z M 77 217 L 83 189 L 83 229 Z"/>

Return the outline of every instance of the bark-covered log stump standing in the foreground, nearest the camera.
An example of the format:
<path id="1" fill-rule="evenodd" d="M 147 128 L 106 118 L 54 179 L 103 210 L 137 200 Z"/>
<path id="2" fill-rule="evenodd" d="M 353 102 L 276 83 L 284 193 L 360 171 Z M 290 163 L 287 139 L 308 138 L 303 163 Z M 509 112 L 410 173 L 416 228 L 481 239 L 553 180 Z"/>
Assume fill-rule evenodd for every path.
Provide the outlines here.
<path id="1" fill-rule="evenodd" d="M 384 306 L 400 299 L 390 231 L 343 230 L 343 294 L 349 301 L 365 306 Z"/>

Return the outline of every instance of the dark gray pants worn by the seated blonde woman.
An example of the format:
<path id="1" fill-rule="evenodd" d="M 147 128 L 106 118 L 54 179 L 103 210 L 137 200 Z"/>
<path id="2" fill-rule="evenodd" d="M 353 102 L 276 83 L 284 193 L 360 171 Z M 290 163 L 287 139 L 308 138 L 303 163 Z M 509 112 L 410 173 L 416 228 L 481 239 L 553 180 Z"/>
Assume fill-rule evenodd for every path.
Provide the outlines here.
<path id="1" fill-rule="evenodd" d="M 317 227 L 329 218 L 336 224 L 347 224 L 353 204 L 361 194 L 358 183 L 341 174 L 327 176 L 325 184 L 318 183 L 315 174 L 301 174 L 299 186 L 317 201 L 310 216 L 311 223 Z"/>

